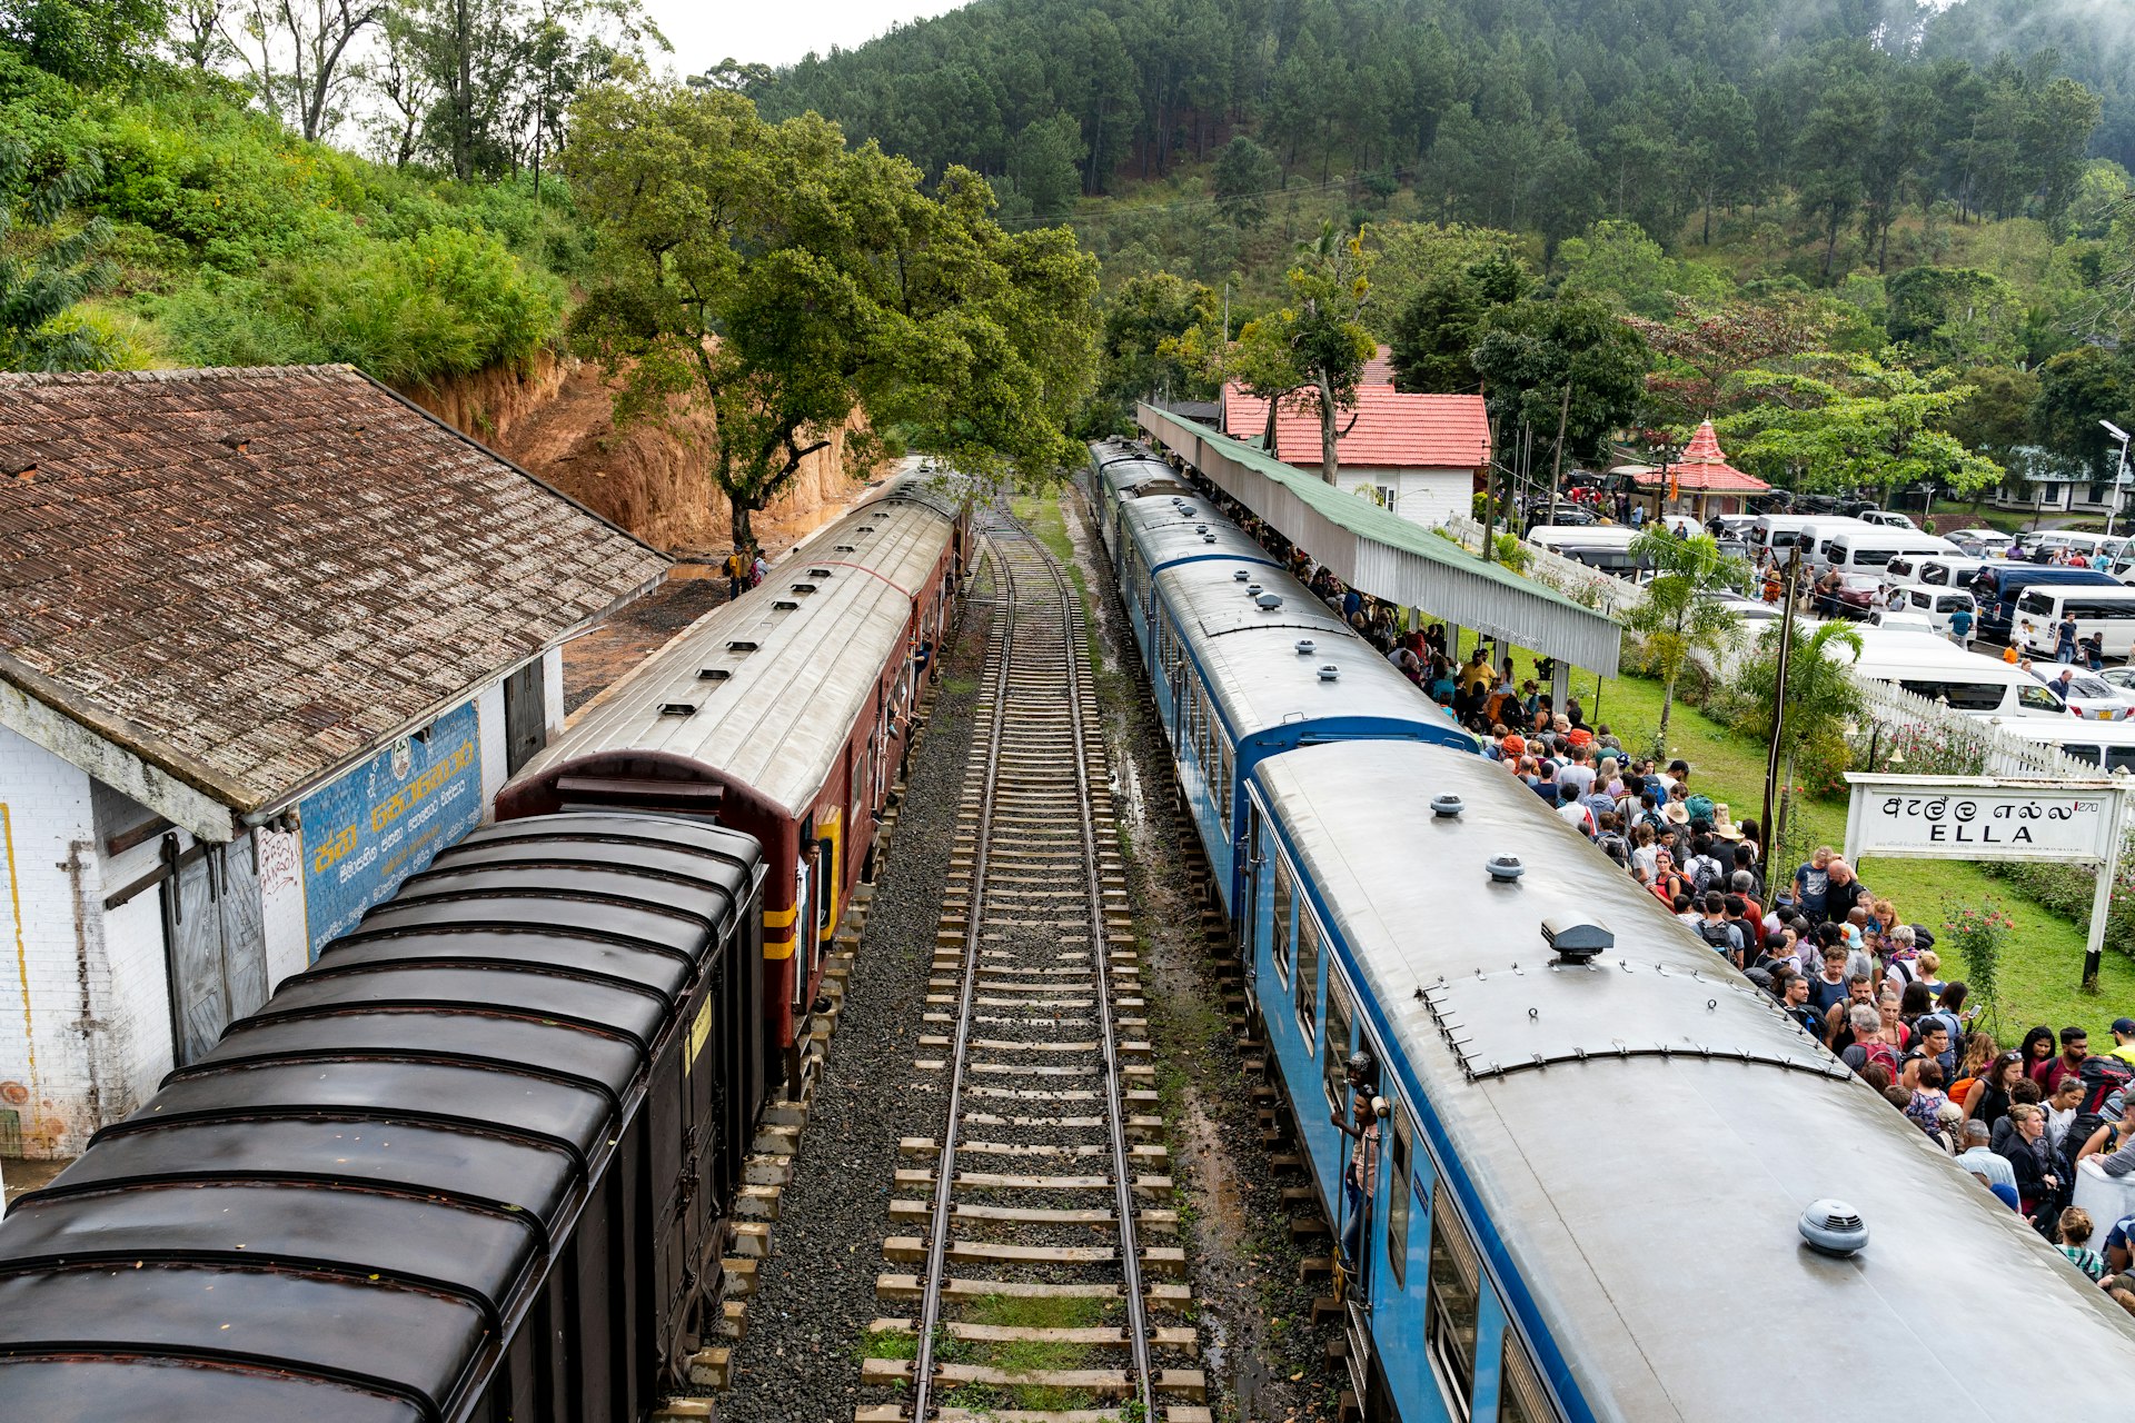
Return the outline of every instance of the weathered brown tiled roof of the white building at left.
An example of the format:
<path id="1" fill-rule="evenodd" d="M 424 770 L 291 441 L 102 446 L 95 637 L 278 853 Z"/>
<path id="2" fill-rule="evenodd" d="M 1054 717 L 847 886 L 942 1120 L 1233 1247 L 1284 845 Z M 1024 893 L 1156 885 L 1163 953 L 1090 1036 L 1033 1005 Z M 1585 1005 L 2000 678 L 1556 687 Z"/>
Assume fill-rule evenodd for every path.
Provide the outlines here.
<path id="1" fill-rule="evenodd" d="M 0 373 L 0 678 L 250 813 L 664 555 L 346 365 Z"/>

